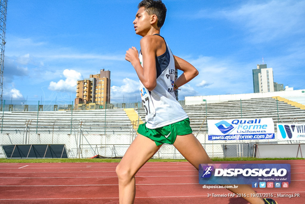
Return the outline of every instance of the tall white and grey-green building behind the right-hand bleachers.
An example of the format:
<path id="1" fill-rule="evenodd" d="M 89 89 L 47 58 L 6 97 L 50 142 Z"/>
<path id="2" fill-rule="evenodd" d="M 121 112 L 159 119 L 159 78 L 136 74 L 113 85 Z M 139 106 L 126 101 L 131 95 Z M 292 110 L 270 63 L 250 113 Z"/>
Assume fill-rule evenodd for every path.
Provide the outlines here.
<path id="1" fill-rule="evenodd" d="M 267 68 L 266 64 L 257 65 L 257 69 L 252 70 L 254 93 L 283 91 L 284 84 L 273 81 L 273 69 Z"/>

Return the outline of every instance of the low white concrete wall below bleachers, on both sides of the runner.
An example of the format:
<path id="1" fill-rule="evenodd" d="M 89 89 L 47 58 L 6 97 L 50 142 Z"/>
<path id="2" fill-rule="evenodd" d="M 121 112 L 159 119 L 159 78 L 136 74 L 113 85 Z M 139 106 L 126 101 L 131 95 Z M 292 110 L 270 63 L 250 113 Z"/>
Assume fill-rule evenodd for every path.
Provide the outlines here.
<path id="1" fill-rule="evenodd" d="M 0 144 L 24 144 L 24 134 L 21 133 L 2 133 L 0 134 Z M 50 134 L 40 135 L 40 134 L 30 134 L 28 135 L 27 144 L 51 144 L 53 136 L 53 144 L 66 144 L 66 149 L 69 158 L 78 158 L 77 148 L 79 144 L 79 135 L 70 134 Z M 275 138 L 277 138 L 277 133 L 275 133 Z M 132 135 L 83 135 L 81 137 L 81 158 L 91 158 L 97 154 L 114 157 L 114 156 L 124 156 L 127 148 L 129 147 L 130 141 L 134 138 Z M 288 141 L 282 141 L 277 139 L 257 139 L 257 140 L 214 140 L 209 141 L 207 134 L 198 134 L 197 139 L 203 144 L 207 154 L 211 158 L 223 157 L 223 146 L 228 144 L 234 146 L 234 151 L 238 152 L 238 155 L 246 157 L 248 155 L 248 149 L 240 149 L 242 145 L 240 143 L 261 143 L 261 142 L 278 142 L 281 144 L 288 144 Z M 292 143 L 298 143 L 300 141 L 292 141 Z M 106 145 L 105 145 L 106 143 Z M 224 144 L 224 145 L 223 145 Z M 236 144 L 236 146 L 235 146 Z M 253 145 L 252 147 L 253 148 Z M 253 154 L 253 152 L 251 152 Z M 0 149 L 0 158 L 5 157 L 3 149 Z M 165 144 L 160 150 L 154 155 L 153 158 L 183 158 L 178 150 L 175 150 L 173 145 Z"/>

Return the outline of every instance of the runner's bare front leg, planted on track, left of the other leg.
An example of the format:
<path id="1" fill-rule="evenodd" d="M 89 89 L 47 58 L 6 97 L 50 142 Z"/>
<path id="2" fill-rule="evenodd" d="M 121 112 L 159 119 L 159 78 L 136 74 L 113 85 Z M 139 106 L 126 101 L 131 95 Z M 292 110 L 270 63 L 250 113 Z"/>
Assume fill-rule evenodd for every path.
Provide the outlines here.
<path id="1" fill-rule="evenodd" d="M 120 204 L 131 204 L 135 200 L 135 174 L 160 149 L 151 139 L 138 134 L 117 165 Z"/>

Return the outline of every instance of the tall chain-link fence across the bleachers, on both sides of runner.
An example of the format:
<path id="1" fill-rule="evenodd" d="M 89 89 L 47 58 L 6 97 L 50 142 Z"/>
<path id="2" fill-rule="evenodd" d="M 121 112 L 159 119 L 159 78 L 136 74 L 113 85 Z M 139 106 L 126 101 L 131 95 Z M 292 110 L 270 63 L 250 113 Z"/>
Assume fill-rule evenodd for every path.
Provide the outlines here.
<path id="1" fill-rule="evenodd" d="M 183 101 L 180 101 L 183 104 Z M 280 101 L 268 102 L 269 108 L 256 111 L 249 101 L 221 102 L 183 106 L 188 113 L 194 135 L 211 158 L 252 157 L 257 143 L 300 143 L 262 139 L 250 141 L 207 140 L 207 119 L 239 117 L 273 117 L 274 122 L 304 122 L 305 111 L 286 108 Z M 264 102 L 266 103 L 266 102 Z M 260 106 L 254 102 L 255 107 Z M 223 107 L 227 108 L 227 112 Z M 289 105 L 290 106 L 290 105 Z M 252 110 L 251 110 L 252 107 Z M 131 120 L 124 108 L 138 114 Z M 289 112 L 292 109 L 292 112 Z M 251 111 L 250 111 L 251 110 Z M 105 107 L 79 105 L 10 105 L 3 103 L 0 117 L 0 144 L 65 144 L 69 158 L 121 158 L 137 135 L 138 124 L 145 117 L 142 103 L 111 103 Z M 293 114 L 294 115 L 293 115 Z M 275 133 L 277 134 L 277 133 Z M 277 136 L 275 136 L 277 138 Z M 5 157 L 0 149 L 0 157 Z M 183 158 L 173 145 L 164 144 L 153 158 Z"/>

